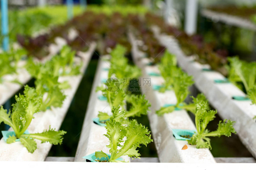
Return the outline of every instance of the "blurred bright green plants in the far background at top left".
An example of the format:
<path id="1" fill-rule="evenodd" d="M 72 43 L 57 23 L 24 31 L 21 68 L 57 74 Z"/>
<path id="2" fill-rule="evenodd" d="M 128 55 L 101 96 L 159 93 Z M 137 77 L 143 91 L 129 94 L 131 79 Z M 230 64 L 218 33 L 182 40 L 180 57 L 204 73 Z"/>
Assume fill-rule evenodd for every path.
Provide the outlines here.
<path id="1" fill-rule="evenodd" d="M 143 6 L 87 6 L 87 11 L 96 13 L 105 13 L 107 15 L 113 12 L 120 12 L 123 15 L 128 13 L 141 13 L 147 12 Z M 82 7 L 75 5 L 73 13 L 79 15 L 83 12 Z M 90 17 L 90 16 L 88 16 Z M 38 31 L 48 28 L 49 26 L 63 24 L 68 20 L 67 6 L 47 6 L 47 7 L 33 7 L 25 10 L 9 10 L 9 38 L 10 43 L 17 41 L 17 34 L 32 36 Z M 0 27 L 1 31 L 1 27 Z M 0 36 L 0 40 L 2 40 Z"/>

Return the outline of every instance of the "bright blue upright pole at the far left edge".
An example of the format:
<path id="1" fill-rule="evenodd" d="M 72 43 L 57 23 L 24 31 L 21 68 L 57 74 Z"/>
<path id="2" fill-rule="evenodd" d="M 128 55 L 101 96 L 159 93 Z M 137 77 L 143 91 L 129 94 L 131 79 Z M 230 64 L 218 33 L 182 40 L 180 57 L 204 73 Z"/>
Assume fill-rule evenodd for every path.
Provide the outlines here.
<path id="1" fill-rule="evenodd" d="M 1 0 L 1 26 L 4 51 L 9 50 L 9 31 L 8 31 L 8 0 Z"/>

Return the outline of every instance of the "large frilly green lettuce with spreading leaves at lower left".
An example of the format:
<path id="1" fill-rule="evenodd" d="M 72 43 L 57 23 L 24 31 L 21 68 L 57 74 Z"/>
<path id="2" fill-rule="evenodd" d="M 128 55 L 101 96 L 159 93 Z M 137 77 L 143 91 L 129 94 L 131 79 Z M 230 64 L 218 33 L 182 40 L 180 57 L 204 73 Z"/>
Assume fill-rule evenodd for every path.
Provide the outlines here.
<path id="1" fill-rule="evenodd" d="M 55 131 L 49 128 L 42 133 L 24 134 L 29 127 L 33 115 L 39 111 L 41 105 L 41 95 L 36 93 L 34 88 L 25 86 L 24 95 L 15 96 L 16 103 L 12 105 L 12 110 L 7 113 L 6 109 L 0 108 L 0 123 L 4 122 L 13 128 L 15 136 L 9 136 L 7 143 L 13 143 L 20 139 L 21 144 L 27 148 L 28 152 L 33 153 L 37 149 L 37 143 L 34 139 L 41 140 L 42 143 L 61 144 L 65 131 Z"/>

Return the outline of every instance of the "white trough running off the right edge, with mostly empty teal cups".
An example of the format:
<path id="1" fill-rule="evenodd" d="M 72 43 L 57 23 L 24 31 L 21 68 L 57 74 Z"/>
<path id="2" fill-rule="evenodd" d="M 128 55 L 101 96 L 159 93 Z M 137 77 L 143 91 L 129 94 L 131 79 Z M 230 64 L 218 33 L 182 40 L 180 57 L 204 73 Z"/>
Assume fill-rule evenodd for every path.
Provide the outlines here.
<path id="1" fill-rule="evenodd" d="M 235 121 L 234 128 L 246 148 L 256 158 L 256 123 L 253 117 L 256 115 L 256 105 L 251 101 L 236 101 L 232 96 L 246 96 L 239 88 L 232 83 L 218 84 L 214 79 L 224 79 L 219 72 L 202 72 L 202 68 L 210 68 L 209 65 L 202 65 L 198 62 L 191 62 L 191 58 L 186 57 L 178 45 L 168 45 L 172 39 L 165 35 L 157 35 L 159 42 L 166 46 L 170 53 L 177 56 L 179 65 L 188 74 L 192 75 L 196 87 L 206 95 L 210 104 L 218 110 L 222 119 Z"/>

